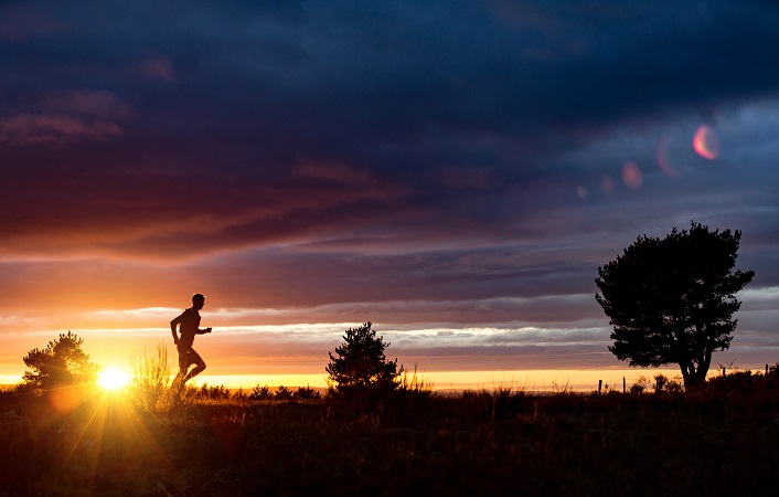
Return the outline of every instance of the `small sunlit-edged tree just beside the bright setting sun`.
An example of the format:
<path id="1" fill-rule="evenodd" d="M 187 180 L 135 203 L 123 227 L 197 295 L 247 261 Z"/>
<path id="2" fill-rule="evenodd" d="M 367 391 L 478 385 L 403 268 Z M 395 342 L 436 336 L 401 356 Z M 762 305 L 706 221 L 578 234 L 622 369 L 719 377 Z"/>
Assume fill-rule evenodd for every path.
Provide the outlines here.
<path id="1" fill-rule="evenodd" d="M 97 366 L 82 350 L 83 342 L 83 338 L 68 330 L 45 349 L 30 350 L 22 359 L 32 369 L 24 372 L 25 385 L 47 390 L 95 381 Z"/>

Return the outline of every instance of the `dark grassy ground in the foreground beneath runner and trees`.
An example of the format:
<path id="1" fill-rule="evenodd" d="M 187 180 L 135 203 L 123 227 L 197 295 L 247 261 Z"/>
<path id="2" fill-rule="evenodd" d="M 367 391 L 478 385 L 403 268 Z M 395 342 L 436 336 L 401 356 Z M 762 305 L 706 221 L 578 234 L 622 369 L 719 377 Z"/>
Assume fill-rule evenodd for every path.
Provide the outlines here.
<path id="1" fill-rule="evenodd" d="M 693 393 L 216 392 L 6 393 L 0 495 L 779 495 L 773 370 Z"/>

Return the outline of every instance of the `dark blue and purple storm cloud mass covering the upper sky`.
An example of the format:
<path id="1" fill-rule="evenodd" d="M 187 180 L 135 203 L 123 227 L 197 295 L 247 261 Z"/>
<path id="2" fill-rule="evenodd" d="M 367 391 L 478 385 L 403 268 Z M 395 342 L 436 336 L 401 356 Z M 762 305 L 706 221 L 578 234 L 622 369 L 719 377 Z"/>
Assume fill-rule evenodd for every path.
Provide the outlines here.
<path id="1" fill-rule="evenodd" d="M 4 10 L 17 28 L 4 36 L 0 140 L 7 163 L 47 178 L 20 172 L 22 198 L 9 192 L 8 203 L 23 209 L 33 182 L 54 202 L 72 194 L 57 211 L 82 222 L 88 214 L 85 231 L 105 233 L 118 216 L 137 232 L 129 243 L 97 246 L 163 256 L 166 246 L 213 251 L 328 222 L 353 231 L 362 224 L 350 210 L 362 211 L 363 223 L 392 210 L 377 220 L 390 229 L 487 223 L 494 234 L 502 218 L 536 214 L 543 201 L 532 191 L 549 194 L 544 203 L 562 201 L 555 189 L 573 178 L 561 155 L 589 137 L 772 94 L 779 78 L 765 63 L 776 12 L 762 3 L 12 2 Z M 104 102 L 93 115 L 50 105 L 68 94 L 113 107 Z M 33 145 L 43 150 L 31 154 Z M 311 162 L 346 165 L 395 194 L 361 198 L 359 182 L 292 173 Z M 206 233 L 184 208 L 192 203 L 213 224 Z M 24 225 L 49 230 L 52 210 L 44 201 Z M 181 229 L 140 228 L 160 218 Z"/>

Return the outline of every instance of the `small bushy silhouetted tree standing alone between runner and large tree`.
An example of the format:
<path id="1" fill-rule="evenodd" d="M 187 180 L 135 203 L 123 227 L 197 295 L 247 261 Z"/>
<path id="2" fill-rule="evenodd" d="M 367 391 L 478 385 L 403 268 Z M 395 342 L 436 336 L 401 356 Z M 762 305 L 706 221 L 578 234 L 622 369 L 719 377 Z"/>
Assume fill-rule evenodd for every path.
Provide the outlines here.
<path id="1" fill-rule="evenodd" d="M 385 343 L 371 322 L 359 328 L 349 328 L 343 336 L 344 342 L 335 348 L 335 356 L 328 352 L 330 363 L 324 368 L 330 381 L 342 391 L 353 390 L 394 390 L 398 387 L 397 378 L 403 366 L 397 369 L 397 359 L 390 361 L 384 356 Z"/>

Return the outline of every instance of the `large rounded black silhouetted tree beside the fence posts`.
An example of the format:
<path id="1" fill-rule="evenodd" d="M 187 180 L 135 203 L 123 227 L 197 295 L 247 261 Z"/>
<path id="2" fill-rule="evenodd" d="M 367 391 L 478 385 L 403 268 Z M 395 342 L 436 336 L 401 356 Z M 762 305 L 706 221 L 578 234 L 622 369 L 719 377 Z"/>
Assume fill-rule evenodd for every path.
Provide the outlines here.
<path id="1" fill-rule="evenodd" d="M 692 222 L 664 239 L 640 236 L 598 267 L 595 295 L 613 326 L 609 350 L 630 366 L 677 363 L 684 385 L 706 379 L 712 352 L 730 346 L 735 297 L 755 273 L 733 271 L 739 231 Z"/>

